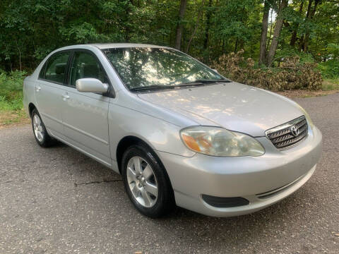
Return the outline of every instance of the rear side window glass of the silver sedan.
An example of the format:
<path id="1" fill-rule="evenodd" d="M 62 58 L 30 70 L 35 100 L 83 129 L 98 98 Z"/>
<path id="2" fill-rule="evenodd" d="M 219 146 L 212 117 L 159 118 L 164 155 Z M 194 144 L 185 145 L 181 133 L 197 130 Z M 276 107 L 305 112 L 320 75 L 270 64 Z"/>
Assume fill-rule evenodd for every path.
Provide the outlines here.
<path id="1" fill-rule="evenodd" d="M 54 54 L 48 59 L 44 79 L 56 83 L 64 83 L 69 52 Z"/>

